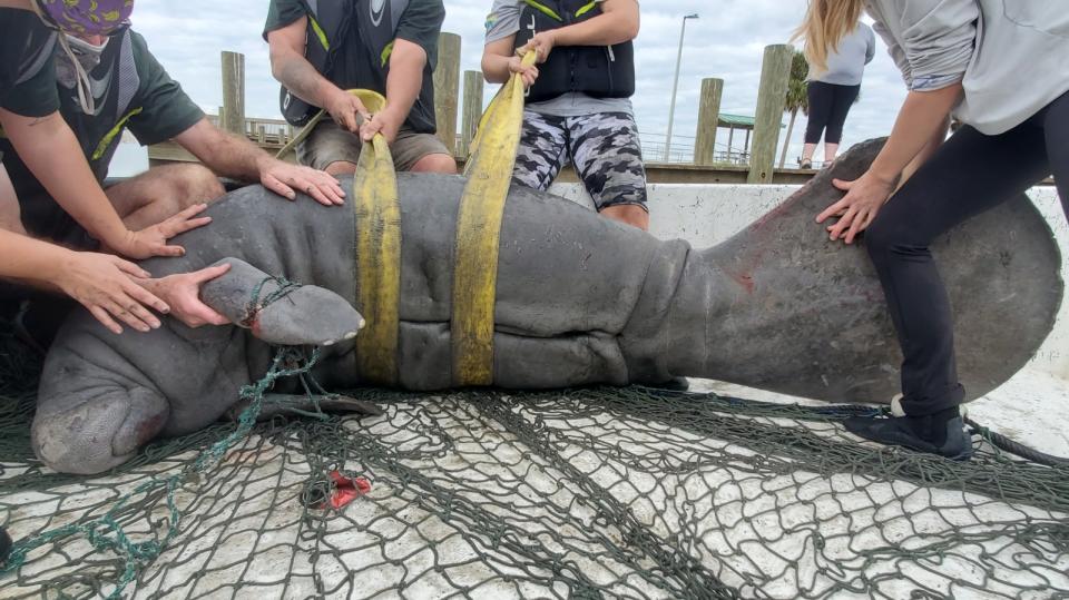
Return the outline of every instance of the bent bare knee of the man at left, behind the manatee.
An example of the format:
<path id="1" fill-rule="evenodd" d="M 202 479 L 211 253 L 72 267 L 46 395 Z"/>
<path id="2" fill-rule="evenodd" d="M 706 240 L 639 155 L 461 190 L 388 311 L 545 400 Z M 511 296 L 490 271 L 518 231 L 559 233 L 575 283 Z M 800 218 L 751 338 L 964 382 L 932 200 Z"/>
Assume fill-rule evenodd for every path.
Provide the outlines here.
<path id="1" fill-rule="evenodd" d="M 133 230 L 151 227 L 225 193 L 215 174 L 200 165 L 156 167 L 107 189 L 108 199 Z"/>

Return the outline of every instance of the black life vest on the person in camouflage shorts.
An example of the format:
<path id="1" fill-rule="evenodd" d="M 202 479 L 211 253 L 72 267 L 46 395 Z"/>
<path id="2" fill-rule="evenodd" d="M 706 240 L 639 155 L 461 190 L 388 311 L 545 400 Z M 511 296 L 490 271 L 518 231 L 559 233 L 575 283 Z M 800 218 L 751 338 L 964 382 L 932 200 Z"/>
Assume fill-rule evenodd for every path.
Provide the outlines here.
<path id="1" fill-rule="evenodd" d="M 601 14 L 594 0 L 521 0 L 520 30 L 516 48 L 534 33 L 578 23 Z M 538 67 L 538 80 L 528 101 L 551 100 L 569 91 L 595 98 L 629 98 L 635 94 L 635 48 L 630 41 L 616 46 L 566 46 L 553 48 Z"/>

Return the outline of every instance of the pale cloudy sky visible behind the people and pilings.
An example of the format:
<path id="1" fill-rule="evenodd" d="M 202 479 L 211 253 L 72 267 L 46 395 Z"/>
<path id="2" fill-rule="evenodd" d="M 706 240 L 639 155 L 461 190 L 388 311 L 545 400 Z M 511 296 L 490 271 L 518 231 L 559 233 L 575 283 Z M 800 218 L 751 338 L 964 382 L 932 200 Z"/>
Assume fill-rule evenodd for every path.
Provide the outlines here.
<path id="1" fill-rule="evenodd" d="M 490 4 L 491 0 L 445 0 L 443 31 L 459 33 L 463 40 L 461 70 L 479 69 Z M 267 6 L 267 0 L 140 0 L 134 27 L 171 76 L 209 112 L 222 102 L 219 51 L 245 53 L 247 115 L 277 117 L 277 83 L 271 77 L 267 45 L 261 38 Z M 634 98 L 644 140 L 663 140 L 667 129 L 684 14 L 697 12 L 699 19 L 687 21 L 674 144 L 693 145 L 702 79 L 725 80 L 723 112 L 753 115 L 764 47 L 786 42 L 805 6 L 805 0 L 646 0 L 636 41 L 638 90 Z M 488 99 L 490 94 L 488 86 Z M 881 43 L 866 71 L 862 100 L 847 120 L 844 144 L 885 135 L 904 95 Z M 804 120 L 800 118 L 788 160 L 801 154 L 802 129 Z M 726 142 L 726 134 L 717 142 Z"/>

